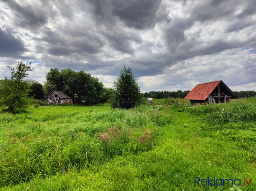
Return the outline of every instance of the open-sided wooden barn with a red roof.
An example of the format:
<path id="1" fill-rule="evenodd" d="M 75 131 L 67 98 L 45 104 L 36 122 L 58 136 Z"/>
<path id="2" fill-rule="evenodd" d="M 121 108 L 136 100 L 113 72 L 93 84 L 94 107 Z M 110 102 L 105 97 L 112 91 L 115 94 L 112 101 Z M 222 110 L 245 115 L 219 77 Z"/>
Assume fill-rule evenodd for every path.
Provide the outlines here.
<path id="1" fill-rule="evenodd" d="M 212 81 L 203 84 L 197 84 L 184 99 L 190 99 L 190 105 L 196 103 L 208 102 L 225 103 L 230 102 L 230 99 L 238 98 L 222 81 Z"/>

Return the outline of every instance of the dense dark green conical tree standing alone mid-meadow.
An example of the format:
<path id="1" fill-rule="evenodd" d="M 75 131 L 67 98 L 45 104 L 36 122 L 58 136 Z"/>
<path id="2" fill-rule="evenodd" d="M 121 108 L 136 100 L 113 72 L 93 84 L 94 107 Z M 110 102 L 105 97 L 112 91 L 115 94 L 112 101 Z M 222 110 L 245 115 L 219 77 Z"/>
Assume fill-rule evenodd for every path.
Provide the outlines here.
<path id="1" fill-rule="evenodd" d="M 124 66 L 121 74 L 116 82 L 114 82 L 116 90 L 111 98 L 111 106 L 113 108 L 133 108 L 141 101 L 140 87 L 134 79 L 131 69 Z"/>

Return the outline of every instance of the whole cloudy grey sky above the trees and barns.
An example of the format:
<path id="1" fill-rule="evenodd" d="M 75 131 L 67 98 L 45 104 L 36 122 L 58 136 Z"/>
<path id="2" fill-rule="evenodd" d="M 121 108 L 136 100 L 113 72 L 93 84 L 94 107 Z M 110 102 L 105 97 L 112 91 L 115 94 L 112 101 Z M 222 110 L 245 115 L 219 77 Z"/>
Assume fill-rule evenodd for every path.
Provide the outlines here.
<path id="1" fill-rule="evenodd" d="M 142 92 L 222 80 L 256 91 L 256 0 L 1 0 L 0 79 L 17 62 L 112 87 L 124 65 Z"/>

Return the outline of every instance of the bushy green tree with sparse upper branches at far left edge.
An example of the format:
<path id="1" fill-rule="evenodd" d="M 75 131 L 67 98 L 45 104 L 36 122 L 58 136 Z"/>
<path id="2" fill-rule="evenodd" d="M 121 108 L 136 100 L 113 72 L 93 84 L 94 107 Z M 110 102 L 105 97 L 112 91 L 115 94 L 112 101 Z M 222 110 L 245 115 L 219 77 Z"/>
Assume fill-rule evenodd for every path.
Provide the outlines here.
<path id="1" fill-rule="evenodd" d="M 23 81 L 23 78 L 27 77 L 28 73 L 26 72 L 32 71 L 33 68 L 18 62 L 17 71 L 15 68 L 10 69 L 12 70 L 11 78 L 5 77 L 5 79 L 0 80 L 0 107 L 3 107 L 3 111 L 7 112 L 25 112 L 30 102 L 28 95 L 31 89 L 29 89 L 28 83 Z"/>

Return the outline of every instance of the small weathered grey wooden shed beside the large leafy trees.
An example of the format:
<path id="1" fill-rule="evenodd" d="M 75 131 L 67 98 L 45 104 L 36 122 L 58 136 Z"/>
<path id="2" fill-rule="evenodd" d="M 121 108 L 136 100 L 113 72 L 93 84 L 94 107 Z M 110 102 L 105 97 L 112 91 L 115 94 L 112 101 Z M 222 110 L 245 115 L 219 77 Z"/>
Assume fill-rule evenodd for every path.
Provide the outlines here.
<path id="1" fill-rule="evenodd" d="M 61 91 L 52 91 L 49 95 L 47 95 L 47 105 L 53 105 L 54 103 L 56 104 L 68 103 L 73 105 L 71 97 L 69 97 L 64 92 L 61 92 Z"/>

